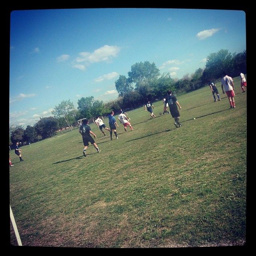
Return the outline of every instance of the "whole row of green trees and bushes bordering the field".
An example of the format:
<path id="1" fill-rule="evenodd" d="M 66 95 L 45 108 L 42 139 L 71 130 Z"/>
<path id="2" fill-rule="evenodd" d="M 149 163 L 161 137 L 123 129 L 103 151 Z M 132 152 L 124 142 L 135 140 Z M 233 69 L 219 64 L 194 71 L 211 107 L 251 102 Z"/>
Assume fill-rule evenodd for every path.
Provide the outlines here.
<path id="1" fill-rule="evenodd" d="M 160 74 L 156 64 L 148 61 L 131 66 L 128 76 L 120 75 L 115 81 L 118 98 L 108 102 L 95 100 L 93 96 L 82 97 L 78 100 L 78 108 L 70 100 L 63 100 L 52 111 L 52 116 L 42 117 L 34 126 L 11 126 L 9 129 L 10 146 L 16 141 L 22 144 L 34 143 L 38 140 L 52 137 L 56 132 L 78 126 L 77 120 L 106 116 L 111 110 L 115 112 L 124 109 L 132 110 L 143 106 L 147 99 L 154 101 L 164 98 L 167 90 L 176 94 L 190 92 L 216 82 L 226 74 L 239 76 L 246 74 L 246 50 L 231 54 L 228 50 L 219 50 L 206 58 L 204 69 L 199 68 L 193 74 L 186 74 L 181 79 L 175 79 L 168 72 Z"/>

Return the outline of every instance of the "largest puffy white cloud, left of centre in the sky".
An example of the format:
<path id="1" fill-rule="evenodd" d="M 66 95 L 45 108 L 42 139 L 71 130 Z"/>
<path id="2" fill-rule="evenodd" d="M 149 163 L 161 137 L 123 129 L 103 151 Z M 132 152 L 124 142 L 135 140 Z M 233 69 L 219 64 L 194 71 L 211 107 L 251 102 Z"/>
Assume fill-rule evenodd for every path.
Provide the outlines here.
<path id="1" fill-rule="evenodd" d="M 94 52 L 80 52 L 79 57 L 76 58 L 76 62 L 84 62 L 84 64 L 88 66 L 96 62 L 110 61 L 112 58 L 116 57 L 119 52 L 120 47 L 118 46 L 104 45 L 94 50 Z M 76 65 L 74 65 L 74 67 L 79 68 L 79 66 Z"/>

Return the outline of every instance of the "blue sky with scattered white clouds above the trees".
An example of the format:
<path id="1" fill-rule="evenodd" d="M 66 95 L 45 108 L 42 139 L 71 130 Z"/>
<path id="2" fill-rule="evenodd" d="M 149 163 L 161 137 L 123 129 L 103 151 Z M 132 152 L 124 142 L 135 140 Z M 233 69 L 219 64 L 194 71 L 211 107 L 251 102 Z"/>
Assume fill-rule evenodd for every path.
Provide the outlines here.
<path id="1" fill-rule="evenodd" d="M 182 78 L 207 56 L 246 50 L 239 10 L 104 8 L 10 14 L 10 125 L 34 125 L 62 100 L 118 97 L 115 80 L 136 62 Z M 238 74 L 239 75 L 239 74 Z"/>

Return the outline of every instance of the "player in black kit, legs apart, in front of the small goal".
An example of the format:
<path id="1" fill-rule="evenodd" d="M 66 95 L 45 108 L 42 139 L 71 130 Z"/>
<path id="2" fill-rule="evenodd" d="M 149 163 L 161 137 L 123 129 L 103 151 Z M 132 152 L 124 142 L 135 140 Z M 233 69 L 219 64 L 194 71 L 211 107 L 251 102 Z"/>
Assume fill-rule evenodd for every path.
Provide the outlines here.
<path id="1" fill-rule="evenodd" d="M 82 122 L 82 125 L 79 128 L 79 133 L 82 135 L 83 142 L 84 142 L 84 150 L 83 155 L 86 156 L 86 149 L 89 146 L 89 142 L 96 148 L 97 152 L 99 153 L 101 150 L 99 150 L 97 144 L 95 143 L 94 139 L 96 139 L 96 135 L 91 131 L 90 126 L 88 125 L 88 119 L 84 119 Z M 92 134 L 94 136 L 94 139 L 91 137 Z"/>

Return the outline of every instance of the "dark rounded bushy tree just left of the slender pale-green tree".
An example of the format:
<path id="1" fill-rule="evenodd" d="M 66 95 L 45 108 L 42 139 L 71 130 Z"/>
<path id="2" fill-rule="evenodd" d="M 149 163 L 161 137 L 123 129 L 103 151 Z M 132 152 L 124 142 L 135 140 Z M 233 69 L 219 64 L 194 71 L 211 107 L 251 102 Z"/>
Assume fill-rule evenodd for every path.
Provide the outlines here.
<path id="1" fill-rule="evenodd" d="M 59 122 L 56 118 L 50 116 L 40 118 L 34 127 L 37 134 L 42 136 L 43 139 L 46 139 L 55 135 L 56 131 L 59 129 Z"/>

